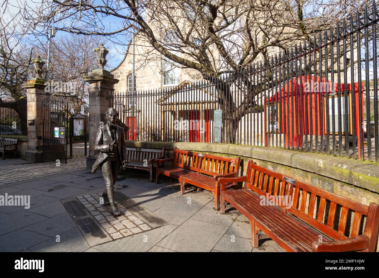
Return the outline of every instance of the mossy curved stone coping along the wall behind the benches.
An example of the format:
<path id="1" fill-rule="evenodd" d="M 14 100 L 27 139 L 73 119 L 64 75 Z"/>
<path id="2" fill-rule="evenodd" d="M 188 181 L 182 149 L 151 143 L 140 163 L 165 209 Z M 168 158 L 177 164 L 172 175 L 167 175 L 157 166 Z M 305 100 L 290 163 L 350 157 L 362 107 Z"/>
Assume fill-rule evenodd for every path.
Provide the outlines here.
<path id="1" fill-rule="evenodd" d="M 313 172 L 379 193 L 379 165 L 353 159 L 273 147 L 237 144 L 157 141 L 126 141 L 126 143 L 127 146 L 136 148 L 174 149 L 176 147 L 183 150 L 229 154 L 252 158 L 253 160 L 265 160 Z"/>

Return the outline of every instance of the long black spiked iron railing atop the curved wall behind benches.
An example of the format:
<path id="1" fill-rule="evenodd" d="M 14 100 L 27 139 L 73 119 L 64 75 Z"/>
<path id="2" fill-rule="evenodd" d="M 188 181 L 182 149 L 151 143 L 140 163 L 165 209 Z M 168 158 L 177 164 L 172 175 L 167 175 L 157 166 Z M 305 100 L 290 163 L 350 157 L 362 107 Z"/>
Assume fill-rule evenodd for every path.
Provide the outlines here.
<path id="1" fill-rule="evenodd" d="M 272 146 L 379 163 L 378 20 L 374 4 L 238 71 L 114 92 L 110 105 L 130 127 L 128 140 Z"/>

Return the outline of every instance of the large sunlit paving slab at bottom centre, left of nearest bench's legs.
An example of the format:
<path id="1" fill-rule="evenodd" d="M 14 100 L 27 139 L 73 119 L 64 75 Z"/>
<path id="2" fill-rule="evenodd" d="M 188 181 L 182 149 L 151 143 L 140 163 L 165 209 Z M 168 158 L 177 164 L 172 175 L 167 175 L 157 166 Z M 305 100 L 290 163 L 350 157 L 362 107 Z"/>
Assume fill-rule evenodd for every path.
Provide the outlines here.
<path id="1" fill-rule="evenodd" d="M 178 252 L 210 252 L 227 229 L 222 225 L 188 219 L 157 245 Z"/>

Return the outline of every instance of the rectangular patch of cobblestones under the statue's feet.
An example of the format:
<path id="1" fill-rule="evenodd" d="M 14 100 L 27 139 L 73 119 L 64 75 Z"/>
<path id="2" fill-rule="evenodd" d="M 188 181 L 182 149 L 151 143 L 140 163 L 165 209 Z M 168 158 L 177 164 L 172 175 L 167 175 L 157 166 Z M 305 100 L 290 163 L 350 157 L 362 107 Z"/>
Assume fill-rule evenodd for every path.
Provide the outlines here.
<path id="1" fill-rule="evenodd" d="M 109 205 L 104 206 L 99 203 L 100 197 L 101 194 L 96 193 L 77 198 L 113 239 L 125 238 L 142 231 L 151 230 L 149 225 L 117 202 L 117 208 L 121 211 L 121 215 L 113 216 L 110 213 Z"/>

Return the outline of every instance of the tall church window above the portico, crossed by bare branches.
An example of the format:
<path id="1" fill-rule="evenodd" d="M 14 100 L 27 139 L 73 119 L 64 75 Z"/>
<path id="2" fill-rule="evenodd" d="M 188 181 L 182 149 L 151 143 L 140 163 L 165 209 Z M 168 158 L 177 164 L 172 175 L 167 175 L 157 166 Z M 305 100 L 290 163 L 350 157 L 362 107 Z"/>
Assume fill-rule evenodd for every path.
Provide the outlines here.
<path id="1" fill-rule="evenodd" d="M 170 29 L 166 31 L 164 35 L 164 45 L 169 49 L 175 49 L 178 47 L 179 42 L 174 30 Z M 170 51 L 172 54 L 180 55 L 177 51 Z M 180 68 L 175 66 L 175 62 L 166 57 L 162 57 L 162 83 L 163 85 L 179 84 Z"/>

